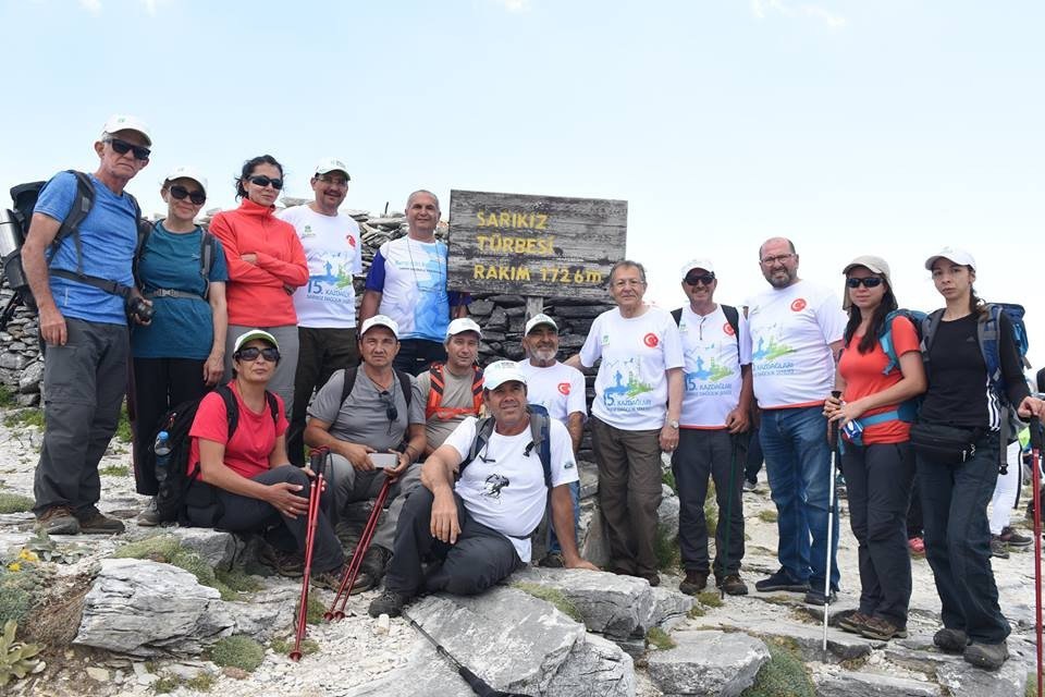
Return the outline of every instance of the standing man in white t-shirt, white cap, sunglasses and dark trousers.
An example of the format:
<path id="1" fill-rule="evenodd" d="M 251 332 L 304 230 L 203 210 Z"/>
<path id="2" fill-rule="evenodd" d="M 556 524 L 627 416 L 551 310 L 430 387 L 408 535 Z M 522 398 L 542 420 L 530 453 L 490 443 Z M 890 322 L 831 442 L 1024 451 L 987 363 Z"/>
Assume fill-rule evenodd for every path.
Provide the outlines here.
<path id="1" fill-rule="evenodd" d="M 740 342 L 747 320 L 736 307 L 715 303 L 718 279 L 709 259 L 681 270 L 688 305 L 672 313 L 678 321 L 686 359 L 683 415 L 672 470 L 680 504 L 678 542 L 686 578 L 679 590 L 697 595 L 708 584 L 708 477 L 715 482 L 715 585 L 732 596 L 747 595 L 740 579 L 743 558 L 741 484 L 751 409 L 751 355 Z M 727 540 L 728 538 L 728 540 Z"/>

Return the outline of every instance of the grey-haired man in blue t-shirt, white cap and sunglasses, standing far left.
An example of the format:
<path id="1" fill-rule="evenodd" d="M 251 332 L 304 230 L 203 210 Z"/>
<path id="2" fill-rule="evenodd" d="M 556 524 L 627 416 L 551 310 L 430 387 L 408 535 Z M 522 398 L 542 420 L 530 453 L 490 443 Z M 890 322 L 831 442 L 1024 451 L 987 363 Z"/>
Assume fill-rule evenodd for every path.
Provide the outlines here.
<path id="1" fill-rule="evenodd" d="M 123 523 L 96 504 L 101 498 L 98 462 L 116 430 L 126 391 L 125 298 L 69 276 L 114 282 L 111 290 L 134 289 L 138 206 L 123 189 L 149 163 L 151 145 L 140 120 L 111 117 L 95 143 L 95 200 L 78 232 L 50 248 L 78 198 L 76 176 L 60 172 L 40 192 L 22 247 L 46 344 L 44 447 L 33 512 L 51 535 L 123 531 Z"/>

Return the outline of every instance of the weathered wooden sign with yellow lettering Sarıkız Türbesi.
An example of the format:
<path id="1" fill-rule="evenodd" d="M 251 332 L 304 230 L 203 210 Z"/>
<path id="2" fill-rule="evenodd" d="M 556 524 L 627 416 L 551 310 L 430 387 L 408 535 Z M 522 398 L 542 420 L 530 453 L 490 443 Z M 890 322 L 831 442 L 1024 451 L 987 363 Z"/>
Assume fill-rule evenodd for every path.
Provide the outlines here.
<path id="1" fill-rule="evenodd" d="M 447 285 L 605 299 L 627 227 L 624 200 L 452 191 Z"/>

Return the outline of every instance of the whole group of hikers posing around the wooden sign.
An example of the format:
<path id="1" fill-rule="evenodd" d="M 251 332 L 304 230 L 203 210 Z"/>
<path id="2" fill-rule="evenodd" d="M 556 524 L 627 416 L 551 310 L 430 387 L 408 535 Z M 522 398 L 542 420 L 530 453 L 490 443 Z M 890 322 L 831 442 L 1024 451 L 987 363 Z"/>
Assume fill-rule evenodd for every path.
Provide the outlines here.
<path id="1" fill-rule="evenodd" d="M 137 523 L 161 523 L 157 472 L 140 463 L 155 460 L 164 415 L 194 403 L 181 521 L 263 535 L 262 559 L 280 574 L 305 567 L 317 474 L 306 448 L 327 453 L 317 585 L 336 589 L 344 577 L 346 508 L 393 482 L 351 590 L 381 588 L 370 614 L 394 616 L 419 595 L 477 594 L 529 563 L 545 515 L 539 562 L 595 570 L 576 535 L 587 428 L 606 571 L 661 583 L 661 456 L 671 453 L 680 590 L 697 594 L 713 576 L 724 592 L 747 594 L 742 492 L 764 460 L 779 570 L 754 587 L 827 604 L 840 579 L 837 443 L 860 572 L 859 608 L 839 626 L 907 636 L 917 491 L 942 606 L 935 645 L 991 670 L 1008 657 L 989 559 L 993 541 L 1017 534 L 1006 521 L 992 538 L 987 505 L 1016 440 L 1008 416 L 1040 420 L 1045 402 L 1024 379 L 1012 320 L 976 295 L 968 252 L 925 260 L 944 299 L 927 316 L 899 309 L 885 259 L 845 265 L 839 299 L 799 277 L 784 237 L 758 248 L 769 288 L 740 308 L 715 302 L 711 259 L 681 268 L 687 302 L 675 313 L 646 303 L 644 268 L 623 260 L 608 280 L 615 307 L 594 319 L 578 354 L 560 362 L 556 320 L 538 314 L 525 323 L 522 360 L 480 367 L 483 328 L 468 317 L 469 296 L 446 288 L 431 192 L 407 198 L 408 234 L 374 255 L 357 314 L 362 243 L 339 210 L 351 180 L 341 160 L 321 160 L 314 200 L 286 209 L 274 205 L 282 164 L 247 160 L 239 207 L 209 230 L 195 222 L 207 179 L 175 168 L 160 191 L 167 216 L 143 234 L 124 187 L 149 162 L 149 129 L 112 117 L 94 147 L 94 174 L 61 172 L 42 188 L 22 248 L 46 344 L 34 512 L 48 533 L 123 530 L 98 509 L 98 463 L 125 394 L 136 488 L 151 497 Z M 71 232 L 85 185 L 89 210 Z M 581 369 L 597 369 L 590 415 Z M 713 560 L 709 480 L 720 510 Z"/>

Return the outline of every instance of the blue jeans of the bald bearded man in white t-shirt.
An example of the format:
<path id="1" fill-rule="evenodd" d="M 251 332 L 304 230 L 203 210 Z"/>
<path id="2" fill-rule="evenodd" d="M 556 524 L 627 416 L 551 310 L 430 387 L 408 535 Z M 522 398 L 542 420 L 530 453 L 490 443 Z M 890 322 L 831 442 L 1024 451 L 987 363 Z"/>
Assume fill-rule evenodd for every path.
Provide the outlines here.
<path id="1" fill-rule="evenodd" d="M 763 409 L 759 442 L 777 512 L 776 555 L 792 580 L 823 591 L 827 564 L 831 448 L 820 406 Z M 838 506 L 832 515 L 831 587 L 838 587 Z M 810 543 L 812 540 L 812 543 Z"/>

